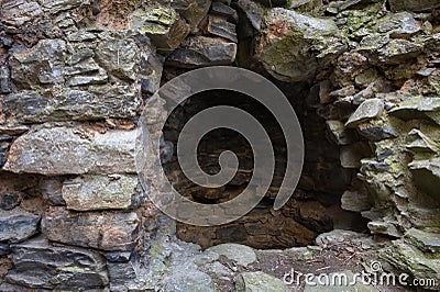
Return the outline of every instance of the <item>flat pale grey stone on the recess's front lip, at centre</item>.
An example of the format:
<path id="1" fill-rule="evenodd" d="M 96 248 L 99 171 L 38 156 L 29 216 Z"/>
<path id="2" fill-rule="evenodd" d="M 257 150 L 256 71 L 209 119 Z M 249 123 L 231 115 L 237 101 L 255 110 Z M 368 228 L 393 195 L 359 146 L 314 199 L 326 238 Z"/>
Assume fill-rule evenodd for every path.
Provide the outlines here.
<path id="1" fill-rule="evenodd" d="M 252 248 L 243 245 L 222 244 L 208 248 L 206 252 L 216 252 L 224 256 L 243 267 L 256 261 L 256 256 Z"/>

